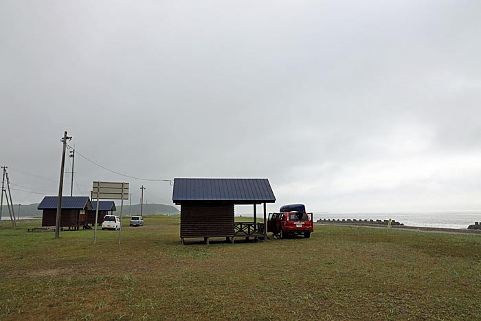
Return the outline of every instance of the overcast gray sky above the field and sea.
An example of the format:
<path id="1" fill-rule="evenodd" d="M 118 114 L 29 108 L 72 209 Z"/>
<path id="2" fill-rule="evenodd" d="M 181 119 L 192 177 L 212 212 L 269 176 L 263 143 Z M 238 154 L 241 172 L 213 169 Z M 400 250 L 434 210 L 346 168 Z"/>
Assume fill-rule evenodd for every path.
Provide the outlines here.
<path id="1" fill-rule="evenodd" d="M 2 0 L 13 201 L 58 193 L 66 130 L 130 176 L 266 177 L 269 210 L 480 210 L 480 16 L 476 0 Z M 74 195 L 129 181 L 133 203 L 142 184 L 172 202 L 166 182 L 79 155 L 75 171 Z"/>

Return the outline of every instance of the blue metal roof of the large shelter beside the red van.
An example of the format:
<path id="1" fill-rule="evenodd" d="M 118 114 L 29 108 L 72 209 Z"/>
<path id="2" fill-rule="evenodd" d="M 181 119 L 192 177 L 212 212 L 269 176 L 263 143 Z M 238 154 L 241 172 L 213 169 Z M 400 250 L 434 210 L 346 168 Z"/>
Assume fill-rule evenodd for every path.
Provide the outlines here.
<path id="1" fill-rule="evenodd" d="M 273 203 L 276 197 L 268 179 L 175 178 L 172 201 L 232 201 Z"/>

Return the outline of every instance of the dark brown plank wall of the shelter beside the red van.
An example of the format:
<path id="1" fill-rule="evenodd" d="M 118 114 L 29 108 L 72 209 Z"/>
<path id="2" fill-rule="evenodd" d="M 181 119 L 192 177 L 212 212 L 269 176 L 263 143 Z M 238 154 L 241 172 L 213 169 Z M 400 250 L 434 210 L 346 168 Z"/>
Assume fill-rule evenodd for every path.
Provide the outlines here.
<path id="1" fill-rule="evenodd" d="M 234 204 L 182 204 L 181 237 L 234 236 Z"/>

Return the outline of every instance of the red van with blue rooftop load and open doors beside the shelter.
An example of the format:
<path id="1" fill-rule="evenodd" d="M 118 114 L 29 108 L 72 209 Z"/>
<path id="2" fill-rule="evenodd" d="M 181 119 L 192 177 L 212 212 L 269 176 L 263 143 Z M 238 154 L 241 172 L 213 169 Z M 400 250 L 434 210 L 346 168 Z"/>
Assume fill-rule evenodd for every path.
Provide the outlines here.
<path id="1" fill-rule="evenodd" d="M 281 206 L 279 213 L 269 213 L 267 232 L 285 239 L 289 235 L 304 235 L 309 239 L 314 232 L 312 213 L 306 212 L 304 204 Z"/>

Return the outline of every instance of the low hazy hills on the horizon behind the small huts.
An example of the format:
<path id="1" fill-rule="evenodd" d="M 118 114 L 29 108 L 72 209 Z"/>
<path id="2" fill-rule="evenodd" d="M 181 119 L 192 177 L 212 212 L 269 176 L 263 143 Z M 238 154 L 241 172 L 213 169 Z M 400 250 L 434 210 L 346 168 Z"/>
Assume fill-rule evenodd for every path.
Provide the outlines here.
<path id="1" fill-rule="evenodd" d="M 5 201 L 5 199 L 3 200 Z M 42 211 L 37 210 L 38 203 L 20 206 L 20 218 L 22 217 L 42 217 Z M 15 212 L 15 217 L 19 215 L 19 204 L 14 204 L 13 210 Z M 179 214 L 179 209 L 175 206 L 165 205 L 165 204 L 144 204 L 143 214 Z M 117 211 L 115 214 L 120 214 L 120 204 L 117 205 Z M 124 215 L 128 214 L 128 203 L 124 203 Z M 131 214 L 140 214 L 140 204 L 135 204 L 131 206 Z M 10 219 L 8 214 L 8 208 L 6 205 L 2 206 L 1 212 L 2 219 Z"/>

